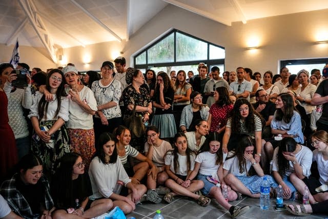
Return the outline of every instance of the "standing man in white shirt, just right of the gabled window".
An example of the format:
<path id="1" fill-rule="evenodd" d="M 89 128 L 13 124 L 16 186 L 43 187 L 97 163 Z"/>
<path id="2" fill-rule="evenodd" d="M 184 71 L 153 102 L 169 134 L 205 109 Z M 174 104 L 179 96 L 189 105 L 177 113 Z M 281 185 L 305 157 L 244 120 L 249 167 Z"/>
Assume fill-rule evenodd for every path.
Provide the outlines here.
<path id="1" fill-rule="evenodd" d="M 243 67 L 238 67 L 236 72 L 238 81 L 230 84 L 229 92 L 236 94 L 237 98 L 243 97 L 250 101 L 252 84 L 244 79 L 245 69 Z"/>

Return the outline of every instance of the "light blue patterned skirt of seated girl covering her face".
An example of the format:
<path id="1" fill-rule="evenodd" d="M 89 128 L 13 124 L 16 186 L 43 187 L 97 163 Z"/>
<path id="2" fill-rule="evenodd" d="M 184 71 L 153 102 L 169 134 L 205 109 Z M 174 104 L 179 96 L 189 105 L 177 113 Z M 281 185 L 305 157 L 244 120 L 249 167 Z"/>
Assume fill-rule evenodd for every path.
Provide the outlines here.
<path id="1" fill-rule="evenodd" d="M 276 183 L 276 181 L 271 175 L 265 175 L 265 176 L 267 176 L 267 180 L 269 182 L 270 187 L 273 188 L 278 187 L 278 184 Z M 246 188 L 248 188 L 252 192 L 252 194 L 260 193 L 260 187 L 263 181 L 263 177 L 258 175 L 236 176 L 236 177 L 242 184 L 244 184 Z"/>

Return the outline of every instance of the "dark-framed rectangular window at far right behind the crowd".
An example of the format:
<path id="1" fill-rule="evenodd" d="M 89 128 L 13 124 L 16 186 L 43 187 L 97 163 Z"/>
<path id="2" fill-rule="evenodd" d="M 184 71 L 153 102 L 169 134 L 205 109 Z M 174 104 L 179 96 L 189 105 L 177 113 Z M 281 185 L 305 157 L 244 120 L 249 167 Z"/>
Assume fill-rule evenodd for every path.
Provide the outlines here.
<path id="1" fill-rule="evenodd" d="M 294 59 L 280 61 L 280 67 L 288 68 L 291 74 L 297 74 L 302 69 L 311 73 L 312 69 L 319 69 L 322 71 L 325 64 L 328 63 L 328 58 L 311 58 L 311 59 Z"/>

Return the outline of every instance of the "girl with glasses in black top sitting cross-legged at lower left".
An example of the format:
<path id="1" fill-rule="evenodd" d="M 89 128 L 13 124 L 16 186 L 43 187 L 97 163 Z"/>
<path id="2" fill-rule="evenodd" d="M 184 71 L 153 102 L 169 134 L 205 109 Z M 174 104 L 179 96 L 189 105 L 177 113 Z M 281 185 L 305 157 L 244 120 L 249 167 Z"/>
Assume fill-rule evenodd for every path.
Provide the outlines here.
<path id="1" fill-rule="evenodd" d="M 89 200 L 89 195 L 92 195 L 90 178 L 78 153 L 67 153 L 61 157 L 51 183 L 51 195 L 56 207 L 53 219 L 92 218 L 113 207 L 112 200 L 108 198 Z M 80 207 L 74 210 L 76 202 Z"/>

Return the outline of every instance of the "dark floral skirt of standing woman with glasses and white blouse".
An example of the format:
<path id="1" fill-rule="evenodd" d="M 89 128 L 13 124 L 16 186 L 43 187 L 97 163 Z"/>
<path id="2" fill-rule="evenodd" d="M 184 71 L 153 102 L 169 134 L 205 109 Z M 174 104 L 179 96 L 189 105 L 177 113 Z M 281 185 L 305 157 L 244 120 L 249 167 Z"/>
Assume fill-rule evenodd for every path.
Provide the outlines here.
<path id="1" fill-rule="evenodd" d="M 40 128 L 50 129 L 56 121 L 41 121 Z M 31 150 L 43 161 L 45 173 L 54 174 L 56 162 L 66 153 L 71 152 L 66 125 L 61 126 L 51 135 L 51 143 L 45 143 L 33 133 Z"/>

